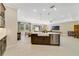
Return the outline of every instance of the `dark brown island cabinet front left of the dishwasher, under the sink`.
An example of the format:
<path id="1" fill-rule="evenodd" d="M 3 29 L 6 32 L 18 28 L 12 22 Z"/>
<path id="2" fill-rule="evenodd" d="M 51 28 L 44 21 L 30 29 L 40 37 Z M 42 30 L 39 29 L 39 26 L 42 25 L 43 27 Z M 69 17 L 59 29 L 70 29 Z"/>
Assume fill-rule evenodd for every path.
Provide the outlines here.
<path id="1" fill-rule="evenodd" d="M 32 44 L 50 44 L 49 36 L 38 36 L 37 34 L 31 35 Z"/>

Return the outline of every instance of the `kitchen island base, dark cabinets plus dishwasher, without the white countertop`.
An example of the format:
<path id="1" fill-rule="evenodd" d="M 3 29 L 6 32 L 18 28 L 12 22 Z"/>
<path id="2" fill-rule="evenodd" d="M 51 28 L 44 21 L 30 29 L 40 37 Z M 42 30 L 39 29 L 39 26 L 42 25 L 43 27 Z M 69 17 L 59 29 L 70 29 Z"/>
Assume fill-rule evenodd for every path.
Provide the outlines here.
<path id="1" fill-rule="evenodd" d="M 60 35 L 54 34 L 49 36 L 38 36 L 37 34 L 31 34 L 31 43 L 32 44 L 41 44 L 41 45 L 60 45 Z"/>

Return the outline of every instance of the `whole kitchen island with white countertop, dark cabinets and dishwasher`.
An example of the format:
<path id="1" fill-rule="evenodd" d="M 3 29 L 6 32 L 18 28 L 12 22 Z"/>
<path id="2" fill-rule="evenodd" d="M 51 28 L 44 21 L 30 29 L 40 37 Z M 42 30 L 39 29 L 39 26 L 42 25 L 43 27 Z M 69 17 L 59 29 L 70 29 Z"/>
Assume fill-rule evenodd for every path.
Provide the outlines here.
<path id="1" fill-rule="evenodd" d="M 34 32 L 31 34 L 31 43 L 40 45 L 60 45 L 60 33 L 48 32 Z"/>

